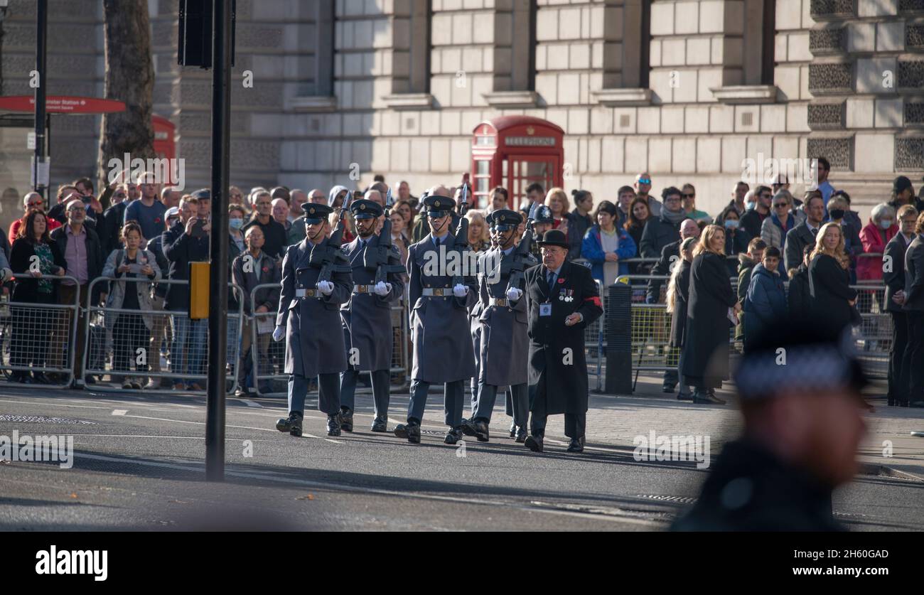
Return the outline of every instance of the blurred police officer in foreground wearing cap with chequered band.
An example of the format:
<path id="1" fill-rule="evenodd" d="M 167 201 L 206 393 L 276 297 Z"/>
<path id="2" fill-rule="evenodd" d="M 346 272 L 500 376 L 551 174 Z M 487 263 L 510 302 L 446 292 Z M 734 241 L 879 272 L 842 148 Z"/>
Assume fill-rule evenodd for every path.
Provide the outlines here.
<path id="1" fill-rule="evenodd" d="M 756 339 L 735 374 L 744 435 L 673 530 L 845 530 L 831 494 L 857 472 L 867 383 L 848 338 L 795 321 Z"/>

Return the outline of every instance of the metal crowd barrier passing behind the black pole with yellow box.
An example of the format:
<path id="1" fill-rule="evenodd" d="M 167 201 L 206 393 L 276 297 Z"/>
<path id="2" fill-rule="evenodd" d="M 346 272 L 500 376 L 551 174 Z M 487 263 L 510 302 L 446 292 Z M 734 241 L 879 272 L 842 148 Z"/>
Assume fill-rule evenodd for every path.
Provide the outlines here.
<path id="1" fill-rule="evenodd" d="M 114 277 L 94 279 L 87 288 L 88 298 L 99 283 L 124 281 Z M 161 279 L 155 282 L 140 280 L 151 285 L 188 285 L 188 281 Z M 227 313 L 227 350 L 225 352 L 227 376 L 225 391 L 237 388 L 237 362 L 239 337 L 243 325 L 243 290 L 228 284 L 237 297 L 237 311 Z M 103 293 L 109 293 L 108 291 Z M 84 374 L 96 377 L 93 390 L 102 392 L 138 392 L 137 387 L 123 387 L 126 381 L 135 381 L 144 388 L 148 379 L 161 379 L 157 386 L 145 388 L 145 393 L 166 393 L 175 383 L 185 385 L 184 390 L 205 390 L 206 357 L 209 346 L 208 321 L 191 321 L 185 310 L 131 310 L 115 309 L 87 304 L 87 333 L 84 348 Z M 174 346 L 165 342 L 165 330 L 171 327 L 174 342 L 177 334 L 185 335 L 184 346 L 174 352 Z M 108 377 L 109 383 L 103 383 Z M 164 385 L 164 381 L 167 381 Z M 155 380 L 156 382 L 156 380 Z"/>

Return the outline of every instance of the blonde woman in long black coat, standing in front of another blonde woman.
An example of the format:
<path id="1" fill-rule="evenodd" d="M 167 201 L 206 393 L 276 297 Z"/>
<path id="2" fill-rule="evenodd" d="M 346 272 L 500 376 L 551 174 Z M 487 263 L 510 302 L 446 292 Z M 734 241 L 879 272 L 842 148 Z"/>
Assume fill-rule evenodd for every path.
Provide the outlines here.
<path id="1" fill-rule="evenodd" d="M 725 230 L 706 225 L 690 265 L 683 382 L 696 387 L 694 403 L 724 405 L 715 395 L 728 378 L 729 310 L 741 310 L 725 266 Z"/>

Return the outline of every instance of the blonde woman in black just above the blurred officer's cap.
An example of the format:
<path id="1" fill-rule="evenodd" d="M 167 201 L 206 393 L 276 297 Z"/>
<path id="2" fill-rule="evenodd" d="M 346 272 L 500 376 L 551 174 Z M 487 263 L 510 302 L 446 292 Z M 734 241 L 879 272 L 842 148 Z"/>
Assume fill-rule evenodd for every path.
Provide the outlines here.
<path id="1" fill-rule="evenodd" d="M 808 292 L 815 317 L 844 329 L 859 322 L 857 290 L 850 287 L 850 257 L 844 250 L 841 225 L 827 223 L 815 238 L 808 263 Z"/>

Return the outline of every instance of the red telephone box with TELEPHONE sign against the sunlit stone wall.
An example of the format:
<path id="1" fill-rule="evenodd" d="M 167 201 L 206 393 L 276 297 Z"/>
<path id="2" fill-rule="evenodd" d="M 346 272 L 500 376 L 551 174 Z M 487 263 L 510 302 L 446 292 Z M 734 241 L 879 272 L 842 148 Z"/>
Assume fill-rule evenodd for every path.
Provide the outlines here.
<path id="1" fill-rule="evenodd" d="M 539 182 L 548 190 L 563 185 L 565 130 L 529 115 L 502 115 L 481 122 L 471 143 L 472 188 L 480 207 L 488 206 L 491 188 L 503 186 L 511 209 Z"/>

